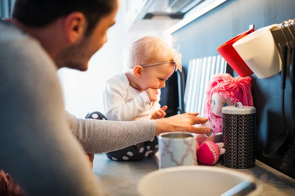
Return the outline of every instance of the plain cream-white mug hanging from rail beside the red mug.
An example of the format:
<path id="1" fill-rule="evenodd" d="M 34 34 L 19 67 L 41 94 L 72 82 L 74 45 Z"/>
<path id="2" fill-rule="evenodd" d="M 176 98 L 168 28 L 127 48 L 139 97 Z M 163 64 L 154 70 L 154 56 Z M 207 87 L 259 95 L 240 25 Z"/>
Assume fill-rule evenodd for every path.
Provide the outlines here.
<path id="1" fill-rule="evenodd" d="M 233 47 L 259 78 L 271 77 L 282 69 L 282 60 L 269 25 L 238 40 Z"/>

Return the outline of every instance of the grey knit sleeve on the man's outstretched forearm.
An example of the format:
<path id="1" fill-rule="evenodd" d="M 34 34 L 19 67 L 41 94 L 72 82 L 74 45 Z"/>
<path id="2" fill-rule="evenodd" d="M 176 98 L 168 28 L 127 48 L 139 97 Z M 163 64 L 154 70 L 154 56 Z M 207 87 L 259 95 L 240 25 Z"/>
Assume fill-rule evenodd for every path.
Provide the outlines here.
<path id="1" fill-rule="evenodd" d="M 87 153 L 118 150 L 154 138 L 155 121 L 99 121 L 77 119 L 67 113 L 67 121 Z"/>

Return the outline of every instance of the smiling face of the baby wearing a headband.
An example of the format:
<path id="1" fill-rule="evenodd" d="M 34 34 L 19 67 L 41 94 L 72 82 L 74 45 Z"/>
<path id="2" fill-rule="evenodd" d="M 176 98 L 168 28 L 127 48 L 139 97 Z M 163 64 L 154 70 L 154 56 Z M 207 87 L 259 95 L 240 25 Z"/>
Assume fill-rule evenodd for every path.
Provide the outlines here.
<path id="1" fill-rule="evenodd" d="M 166 63 L 144 68 L 139 78 L 139 86 L 145 91 L 148 88 L 161 89 L 165 87 L 165 81 L 174 73 L 175 63 Z"/>

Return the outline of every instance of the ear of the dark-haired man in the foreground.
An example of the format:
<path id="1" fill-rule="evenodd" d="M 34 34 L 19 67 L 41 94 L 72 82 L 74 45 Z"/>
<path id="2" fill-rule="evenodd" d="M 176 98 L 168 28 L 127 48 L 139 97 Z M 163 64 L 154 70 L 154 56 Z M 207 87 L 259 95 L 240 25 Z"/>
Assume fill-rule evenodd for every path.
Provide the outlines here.
<path id="1" fill-rule="evenodd" d="M 82 12 L 73 12 L 65 17 L 64 31 L 71 44 L 83 39 L 87 28 L 87 21 Z"/>

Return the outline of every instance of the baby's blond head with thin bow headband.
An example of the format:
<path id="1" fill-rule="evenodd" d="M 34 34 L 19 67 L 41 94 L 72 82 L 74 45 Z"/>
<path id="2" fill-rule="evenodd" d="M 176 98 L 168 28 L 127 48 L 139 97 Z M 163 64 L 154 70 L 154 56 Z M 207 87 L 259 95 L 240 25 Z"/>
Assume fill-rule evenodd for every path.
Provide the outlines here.
<path id="1" fill-rule="evenodd" d="M 140 89 L 164 88 L 165 81 L 175 71 L 175 60 L 179 55 L 157 37 L 146 36 L 134 42 L 131 46 L 130 68 Z"/>

